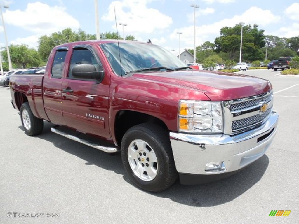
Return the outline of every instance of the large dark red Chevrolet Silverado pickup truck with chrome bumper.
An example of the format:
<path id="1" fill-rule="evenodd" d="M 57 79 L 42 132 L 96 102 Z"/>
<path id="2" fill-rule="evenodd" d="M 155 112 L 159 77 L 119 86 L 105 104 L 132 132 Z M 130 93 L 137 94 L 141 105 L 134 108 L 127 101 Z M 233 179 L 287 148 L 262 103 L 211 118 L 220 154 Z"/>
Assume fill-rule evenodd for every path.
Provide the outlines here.
<path id="1" fill-rule="evenodd" d="M 114 153 L 138 187 L 163 191 L 234 174 L 277 130 L 269 81 L 187 67 L 151 43 L 97 40 L 54 47 L 45 74 L 10 78 L 25 133 L 51 130 Z M 249 178 L 249 177 L 248 177 Z"/>

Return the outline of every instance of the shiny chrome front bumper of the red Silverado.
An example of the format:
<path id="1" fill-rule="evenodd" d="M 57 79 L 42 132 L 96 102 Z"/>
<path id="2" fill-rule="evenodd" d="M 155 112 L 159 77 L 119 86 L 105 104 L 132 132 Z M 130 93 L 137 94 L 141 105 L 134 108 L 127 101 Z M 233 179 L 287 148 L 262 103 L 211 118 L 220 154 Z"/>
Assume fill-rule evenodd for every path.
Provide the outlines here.
<path id="1" fill-rule="evenodd" d="M 176 169 L 180 174 L 211 175 L 238 171 L 269 148 L 277 131 L 278 114 L 271 112 L 260 127 L 235 136 L 170 132 Z M 224 161 L 225 169 L 205 171 L 208 162 Z"/>

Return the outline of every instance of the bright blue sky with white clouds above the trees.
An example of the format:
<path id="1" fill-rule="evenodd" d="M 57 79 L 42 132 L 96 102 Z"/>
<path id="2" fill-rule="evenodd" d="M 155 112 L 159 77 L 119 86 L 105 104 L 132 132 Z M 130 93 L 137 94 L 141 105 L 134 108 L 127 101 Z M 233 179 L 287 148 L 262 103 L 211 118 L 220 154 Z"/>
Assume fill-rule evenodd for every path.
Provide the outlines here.
<path id="1" fill-rule="evenodd" d="M 70 27 L 96 33 L 94 0 L 0 0 L 9 44 L 38 47 L 42 35 Z M 167 50 L 193 49 L 196 4 L 196 46 L 214 42 L 225 26 L 258 24 L 266 35 L 299 36 L 299 1 L 295 0 L 98 0 L 100 32 L 116 31 L 161 45 Z M 0 47 L 5 46 L 0 23 Z M 123 27 L 118 25 L 123 36 Z"/>

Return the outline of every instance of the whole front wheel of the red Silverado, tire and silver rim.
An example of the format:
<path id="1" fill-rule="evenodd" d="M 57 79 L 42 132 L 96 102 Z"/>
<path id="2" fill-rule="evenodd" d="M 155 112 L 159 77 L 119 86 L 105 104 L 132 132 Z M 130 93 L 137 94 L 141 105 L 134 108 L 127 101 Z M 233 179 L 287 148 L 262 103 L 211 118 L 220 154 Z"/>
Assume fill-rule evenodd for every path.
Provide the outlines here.
<path id="1" fill-rule="evenodd" d="M 121 142 L 123 166 L 139 188 L 159 192 L 177 179 L 169 134 L 154 124 L 130 128 Z"/>

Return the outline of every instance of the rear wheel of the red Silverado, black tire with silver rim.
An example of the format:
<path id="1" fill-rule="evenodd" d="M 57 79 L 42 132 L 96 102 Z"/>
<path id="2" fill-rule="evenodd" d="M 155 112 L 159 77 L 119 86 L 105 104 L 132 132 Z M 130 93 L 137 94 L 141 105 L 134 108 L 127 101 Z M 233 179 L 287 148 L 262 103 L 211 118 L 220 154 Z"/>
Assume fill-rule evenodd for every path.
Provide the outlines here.
<path id="1" fill-rule="evenodd" d="M 25 130 L 25 134 L 29 136 L 35 136 L 42 133 L 42 129 L 44 127 L 43 119 L 40 119 L 33 115 L 28 102 L 22 104 L 20 112 L 21 112 L 21 121 L 22 121 L 23 128 Z M 28 126 L 27 121 L 30 123 L 30 126 Z"/>

